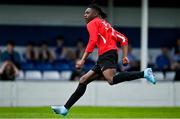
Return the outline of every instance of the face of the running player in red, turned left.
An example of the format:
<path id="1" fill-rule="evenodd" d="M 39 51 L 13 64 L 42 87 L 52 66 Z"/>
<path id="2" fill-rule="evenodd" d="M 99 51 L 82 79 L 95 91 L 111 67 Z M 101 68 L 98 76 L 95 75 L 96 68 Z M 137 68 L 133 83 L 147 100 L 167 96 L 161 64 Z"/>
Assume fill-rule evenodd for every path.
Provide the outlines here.
<path id="1" fill-rule="evenodd" d="M 84 13 L 84 19 L 86 23 L 89 23 L 91 20 L 93 20 L 95 17 L 97 17 L 97 12 L 92 8 L 87 8 Z"/>

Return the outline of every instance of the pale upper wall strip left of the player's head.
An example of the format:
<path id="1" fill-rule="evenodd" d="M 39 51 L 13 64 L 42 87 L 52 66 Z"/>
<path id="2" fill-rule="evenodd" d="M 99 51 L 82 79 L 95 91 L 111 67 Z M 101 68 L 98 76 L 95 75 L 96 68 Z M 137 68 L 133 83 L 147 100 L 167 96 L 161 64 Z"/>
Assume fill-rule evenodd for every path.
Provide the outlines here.
<path id="1" fill-rule="evenodd" d="M 85 7 L 0 5 L 0 24 L 84 25 Z"/>

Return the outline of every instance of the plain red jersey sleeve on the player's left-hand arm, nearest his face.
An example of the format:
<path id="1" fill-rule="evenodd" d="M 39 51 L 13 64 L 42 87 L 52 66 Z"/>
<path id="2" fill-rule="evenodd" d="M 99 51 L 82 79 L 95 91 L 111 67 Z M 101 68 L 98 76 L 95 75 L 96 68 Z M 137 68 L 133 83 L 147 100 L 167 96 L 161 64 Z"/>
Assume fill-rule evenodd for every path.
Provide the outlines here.
<path id="1" fill-rule="evenodd" d="M 98 40 L 98 29 L 95 22 L 88 23 L 87 29 L 89 32 L 89 42 L 85 51 L 91 53 L 93 52 L 96 42 Z"/>

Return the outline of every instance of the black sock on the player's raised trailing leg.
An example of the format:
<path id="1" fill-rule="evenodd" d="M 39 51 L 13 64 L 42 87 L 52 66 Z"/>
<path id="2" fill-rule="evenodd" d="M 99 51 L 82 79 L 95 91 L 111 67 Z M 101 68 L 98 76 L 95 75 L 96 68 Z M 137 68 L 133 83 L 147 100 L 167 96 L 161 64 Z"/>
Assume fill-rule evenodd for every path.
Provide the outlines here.
<path id="1" fill-rule="evenodd" d="M 144 78 L 144 72 L 119 72 L 113 77 L 113 84 Z"/>

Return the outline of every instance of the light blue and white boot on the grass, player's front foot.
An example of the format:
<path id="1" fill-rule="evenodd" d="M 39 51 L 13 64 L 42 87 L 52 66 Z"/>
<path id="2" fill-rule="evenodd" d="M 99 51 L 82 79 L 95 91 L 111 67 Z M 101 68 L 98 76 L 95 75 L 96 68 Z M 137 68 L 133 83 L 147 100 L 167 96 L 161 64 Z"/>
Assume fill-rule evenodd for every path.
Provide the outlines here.
<path id="1" fill-rule="evenodd" d="M 68 109 L 66 109 L 64 106 L 51 106 L 51 109 L 56 113 L 63 116 L 66 116 L 68 114 Z"/>

